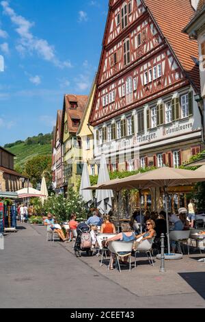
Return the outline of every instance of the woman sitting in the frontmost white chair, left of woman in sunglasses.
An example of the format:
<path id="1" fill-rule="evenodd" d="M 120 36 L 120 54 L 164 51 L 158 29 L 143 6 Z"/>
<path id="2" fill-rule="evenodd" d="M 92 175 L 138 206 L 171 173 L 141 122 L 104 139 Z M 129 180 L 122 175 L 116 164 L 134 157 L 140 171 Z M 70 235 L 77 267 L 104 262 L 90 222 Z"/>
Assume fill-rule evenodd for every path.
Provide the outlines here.
<path id="1" fill-rule="evenodd" d="M 105 246 L 107 246 L 111 241 L 115 241 L 115 240 L 118 240 L 118 241 L 133 241 L 135 240 L 135 233 L 132 232 L 132 229 L 131 229 L 131 226 L 128 224 L 128 223 L 122 223 L 122 232 L 120 232 L 120 234 L 112 237 L 112 238 L 109 238 L 106 240 L 105 242 Z M 124 255 L 126 255 L 125 253 L 121 253 L 121 255 L 123 256 L 123 262 L 124 264 L 127 264 L 127 260 L 128 258 Z M 115 259 L 115 255 L 113 253 L 111 253 L 111 264 L 110 264 L 110 267 L 109 269 L 113 270 L 113 262 L 114 262 L 114 259 Z"/>

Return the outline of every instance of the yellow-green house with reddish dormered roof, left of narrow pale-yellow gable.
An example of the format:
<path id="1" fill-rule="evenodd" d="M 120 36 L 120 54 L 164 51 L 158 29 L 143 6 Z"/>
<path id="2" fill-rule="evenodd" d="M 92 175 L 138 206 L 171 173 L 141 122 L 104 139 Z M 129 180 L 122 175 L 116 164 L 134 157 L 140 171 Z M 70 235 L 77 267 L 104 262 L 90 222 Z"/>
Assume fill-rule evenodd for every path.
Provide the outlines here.
<path id="1" fill-rule="evenodd" d="M 65 95 L 62 116 L 61 142 L 63 144 L 64 191 L 77 190 L 82 173 L 81 139 L 77 131 L 87 103 L 85 95 Z"/>

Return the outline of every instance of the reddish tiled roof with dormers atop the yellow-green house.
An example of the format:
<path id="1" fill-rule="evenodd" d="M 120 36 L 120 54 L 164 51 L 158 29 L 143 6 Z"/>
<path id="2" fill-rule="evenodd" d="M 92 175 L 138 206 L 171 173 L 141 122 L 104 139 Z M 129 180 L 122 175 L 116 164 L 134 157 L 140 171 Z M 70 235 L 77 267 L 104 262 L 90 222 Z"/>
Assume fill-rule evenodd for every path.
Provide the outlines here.
<path id="1" fill-rule="evenodd" d="M 77 103 L 77 109 L 70 109 L 70 103 Z M 83 112 L 87 103 L 87 95 L 65 95 L 64 96 L 64 108 L 66 109 L 68 119 L 68 131 L 72 134 L 76 134 L 78 127 L 72 126 L 72 120 L 81 120 Z"/>

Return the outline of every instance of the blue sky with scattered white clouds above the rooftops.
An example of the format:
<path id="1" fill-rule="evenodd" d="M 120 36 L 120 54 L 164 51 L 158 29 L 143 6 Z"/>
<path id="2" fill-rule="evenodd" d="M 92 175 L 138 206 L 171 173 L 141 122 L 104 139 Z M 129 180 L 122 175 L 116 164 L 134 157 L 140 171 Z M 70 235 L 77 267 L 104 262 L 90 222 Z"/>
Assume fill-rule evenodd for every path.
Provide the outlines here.
<path id="1" fill-rule="evenodd" d="M 51 132 L 64 94 L 89 93 L 107 10 L 108 0 L 0 0 L 0 145 Z"/>

